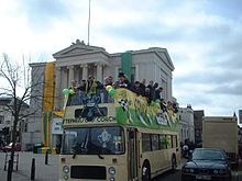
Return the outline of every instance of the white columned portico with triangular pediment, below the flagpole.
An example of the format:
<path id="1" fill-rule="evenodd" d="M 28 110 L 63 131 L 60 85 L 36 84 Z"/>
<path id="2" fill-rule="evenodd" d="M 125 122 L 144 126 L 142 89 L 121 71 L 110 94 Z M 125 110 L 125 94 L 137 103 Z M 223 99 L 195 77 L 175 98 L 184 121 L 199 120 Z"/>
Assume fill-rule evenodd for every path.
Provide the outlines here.
<path id="1" fill-rule="evenodd" d="M 55 109 L 61 109 L 61 90 L 69 88 L 72 80 L 79 83 L 92 75 L 96 80 L 103 82 L 103 69 L 110 64 L 110 55 L 105 48 L 87 46 L 78 39 L 53 56 L 56 59 Z"/>

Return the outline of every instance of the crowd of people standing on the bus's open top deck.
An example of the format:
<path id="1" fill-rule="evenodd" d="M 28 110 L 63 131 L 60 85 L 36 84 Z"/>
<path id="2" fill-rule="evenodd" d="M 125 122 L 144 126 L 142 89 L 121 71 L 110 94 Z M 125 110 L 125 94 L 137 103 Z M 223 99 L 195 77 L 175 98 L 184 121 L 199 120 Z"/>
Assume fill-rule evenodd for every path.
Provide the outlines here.
<path id="1" fill-rule="evenodd" d="M 89 95 L 95 95 L 103 92 L 103 102 L 113 102 L 113 99 L 108 95 L 108 91 L 106 91 L 105 88 L 107 86 L 112 86 L 114 89 L 125 88 L 136 93 L 138 95 L 144 97 L 148 104 L 152 101 L 158 101 L 162 109 L 166 108 L 166 103 L 162 98 L 163 88 L 158 87 L 157 82 L 151 80 L 147 86 L 145 83 L 145 79 L 143 79 L 142 82 L 131 82 L 123 72 L 119 72 L 118 78 L 119 80 L 113 81 L 113 77 L 108 76 L 105 78 L 105 84 L 102 84 L 101 82 L 97 81 L 94 76 L 89 76 L 88 80 L 81 80 L 79 84 L 77 83 L 77 81 L 73 80 L 69 89 L 73 89 L 75 92 L 81 91 Z M 177 110 L 174 103 L 168 102 L 168 104 L 172 104 L 175 111 Z"/>

